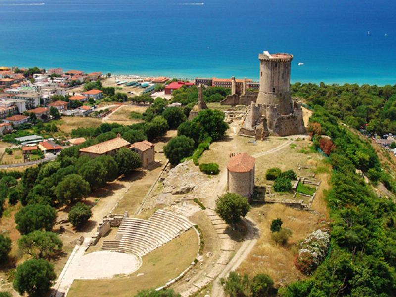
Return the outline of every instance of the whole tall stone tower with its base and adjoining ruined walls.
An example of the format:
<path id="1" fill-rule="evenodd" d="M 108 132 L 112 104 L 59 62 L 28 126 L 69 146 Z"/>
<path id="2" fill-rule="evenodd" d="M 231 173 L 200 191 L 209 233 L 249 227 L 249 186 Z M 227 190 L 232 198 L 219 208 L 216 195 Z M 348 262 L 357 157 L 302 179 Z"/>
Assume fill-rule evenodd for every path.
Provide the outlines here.
<path id="1" fill-rule="evenodd" d="M 290 68 L 293 56 L 286 53 L 259 54 L 260 89 L 246 91 L 246 81 L 239 95 L 232 81 L 232 95 L 222 105 L 250 105 L 239 131 L 240 135 L 264 139 L 269 135 L 287 136 L 306 132 L 301 105 L 290 96 Z"/>

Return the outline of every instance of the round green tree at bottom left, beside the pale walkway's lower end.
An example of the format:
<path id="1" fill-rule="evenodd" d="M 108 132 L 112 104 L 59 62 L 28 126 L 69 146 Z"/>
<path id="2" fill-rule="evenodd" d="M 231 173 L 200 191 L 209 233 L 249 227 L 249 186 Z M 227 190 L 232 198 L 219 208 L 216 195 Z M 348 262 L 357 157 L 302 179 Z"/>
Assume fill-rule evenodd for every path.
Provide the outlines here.
<path id="1" fill-rule="evenodd" d="M 27 293 L 31 297 L 42 297 L 55 278 L 52 264 L 43 259 L 32 259 L 17 266 L 13 285 L 21 295 Z"/>

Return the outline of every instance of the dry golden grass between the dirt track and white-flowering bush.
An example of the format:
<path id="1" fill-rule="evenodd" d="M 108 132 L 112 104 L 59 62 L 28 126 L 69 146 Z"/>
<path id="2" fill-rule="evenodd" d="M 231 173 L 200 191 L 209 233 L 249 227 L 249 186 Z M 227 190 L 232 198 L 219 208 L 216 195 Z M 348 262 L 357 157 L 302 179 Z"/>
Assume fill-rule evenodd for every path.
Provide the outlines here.
<path id="1" fill-rule="evenodd" d="M 260 238 L 245 261 L 238 268 L 238 272 L 253 276 L 257 273 L 268 274 L 275 284 L 289 284 L 303 279 L 294 266 L 299 241 L 319 227 L 320 215 L 297 210 L 282 204 L 263 205 L 254 207 L 250 215 L 260 228 Z M 271 221 L 281 218 L 283 228 L 293 231 L 286 247 L 277 245 L 271 239 Z"/>

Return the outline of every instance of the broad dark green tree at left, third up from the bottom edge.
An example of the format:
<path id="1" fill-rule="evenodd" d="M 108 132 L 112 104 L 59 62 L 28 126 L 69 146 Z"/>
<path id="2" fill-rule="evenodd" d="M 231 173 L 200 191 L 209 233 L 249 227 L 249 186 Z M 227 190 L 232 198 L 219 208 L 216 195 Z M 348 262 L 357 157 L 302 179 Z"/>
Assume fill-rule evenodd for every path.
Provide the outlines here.
<path id="1" fill-rule="evenodd" d="M 16 229 L 21 234 L 35 230 L 52 230 L 56 220 L 56 209 L 49 205 L 30 204 L 15 214 Z"/>

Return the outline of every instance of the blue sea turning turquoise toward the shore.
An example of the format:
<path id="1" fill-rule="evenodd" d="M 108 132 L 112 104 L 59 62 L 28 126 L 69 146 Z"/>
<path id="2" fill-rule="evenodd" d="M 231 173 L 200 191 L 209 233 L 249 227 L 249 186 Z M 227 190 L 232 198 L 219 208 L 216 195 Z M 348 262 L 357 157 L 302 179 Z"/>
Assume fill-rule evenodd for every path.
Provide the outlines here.
<path id="1" fill-rule="evenodd" d="M 394 85 L 396 1 L 0 0 L 4 66 L 258 79 L 263 50 L 293 82 Z"/>

